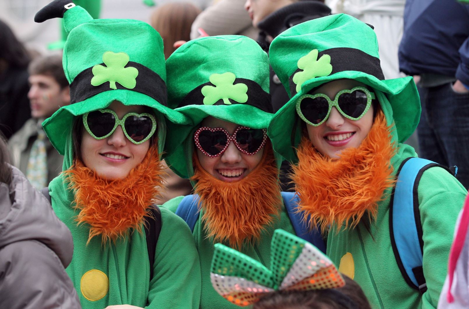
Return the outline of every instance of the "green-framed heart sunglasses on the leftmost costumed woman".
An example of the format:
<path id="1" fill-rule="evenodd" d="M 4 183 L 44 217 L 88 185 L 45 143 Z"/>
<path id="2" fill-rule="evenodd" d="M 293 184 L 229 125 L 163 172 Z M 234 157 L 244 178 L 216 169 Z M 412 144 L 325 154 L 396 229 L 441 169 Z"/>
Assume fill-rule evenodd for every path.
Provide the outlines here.
<path id="1" fill-rule="evenodd" d="M 83 114 L 86 131 L 96 139 L 111 136 L 117 126 L 121 126 L 125 136 L 134 144 L 148 140 L 156 131 L 156 120 L 149 113 L 128 113 L 122 119 L 111 109 L 98 109 Z"/>

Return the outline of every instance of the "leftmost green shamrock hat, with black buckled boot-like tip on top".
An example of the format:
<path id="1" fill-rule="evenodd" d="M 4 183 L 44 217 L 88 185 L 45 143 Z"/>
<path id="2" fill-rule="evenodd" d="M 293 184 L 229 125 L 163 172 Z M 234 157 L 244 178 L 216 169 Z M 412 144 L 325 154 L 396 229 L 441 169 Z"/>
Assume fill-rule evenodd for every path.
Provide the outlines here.
<path id="1" fill-rule="evenodd" d="M 43 122 L 53 146 L 64 154 L 74 118 L 118 100 L 154 110 L 161 153 L 166 137 L 164 118 L 178 123 L 188 120 L 167 107 L 166 66 L 159 33 L 137 20 L 93 19 L 70 0 L 51 2 L 34 20 L 42 23 L 54 17 L 63 17 L 69 33 L 63 69 L 70 83 L 70 105 L 62 106 Z"/>

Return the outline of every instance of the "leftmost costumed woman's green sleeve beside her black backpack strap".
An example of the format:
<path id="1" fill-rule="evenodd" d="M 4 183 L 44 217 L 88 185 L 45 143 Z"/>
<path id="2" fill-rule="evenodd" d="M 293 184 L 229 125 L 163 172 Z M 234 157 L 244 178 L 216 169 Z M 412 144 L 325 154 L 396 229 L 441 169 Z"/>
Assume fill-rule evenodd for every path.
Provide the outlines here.
<path id="1" fill-rule="evenodd" d="M 153 279 L 145 308 L 198 309 L 200 262 L 187 224 L 160 207 L 161 232 L 155 250 Z"/>

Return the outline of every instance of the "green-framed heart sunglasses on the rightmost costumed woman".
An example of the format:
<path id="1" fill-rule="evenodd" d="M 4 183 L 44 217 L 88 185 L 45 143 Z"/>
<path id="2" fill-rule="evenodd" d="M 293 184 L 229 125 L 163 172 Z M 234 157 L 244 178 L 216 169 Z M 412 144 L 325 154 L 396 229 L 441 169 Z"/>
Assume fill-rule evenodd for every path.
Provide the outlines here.
<path id="1" fill-rule="evenodd" d="M 374 98 L 375 94 L 365 87 L 341 90 L 334 100 L 322 93 L 304 94 L 296 101 L 296 113 L 304 122 L 317 127 L 327 120 L 335 106 L 344 117 L 356 121 L 370 109 Z"/>

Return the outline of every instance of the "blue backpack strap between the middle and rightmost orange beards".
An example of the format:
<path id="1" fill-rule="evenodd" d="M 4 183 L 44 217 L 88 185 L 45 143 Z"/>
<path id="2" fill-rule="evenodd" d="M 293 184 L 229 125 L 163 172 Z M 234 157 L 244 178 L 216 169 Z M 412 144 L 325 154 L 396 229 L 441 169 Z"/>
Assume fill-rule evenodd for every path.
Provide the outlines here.
<path id="1" fill-rule="evenodd" d="M 298 196 L 293 192 L 282 192 L 282 198 L 296 236 L 312 243 L 325 254 L 325 242 L 322 238 L 321 232 L 317 227 L 310 230 L 306 225 L 306 222 L 303 221 L 304 212 L 298 212 L 297 210 L 298 203 L 300 201 Z"/>

